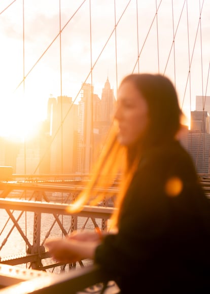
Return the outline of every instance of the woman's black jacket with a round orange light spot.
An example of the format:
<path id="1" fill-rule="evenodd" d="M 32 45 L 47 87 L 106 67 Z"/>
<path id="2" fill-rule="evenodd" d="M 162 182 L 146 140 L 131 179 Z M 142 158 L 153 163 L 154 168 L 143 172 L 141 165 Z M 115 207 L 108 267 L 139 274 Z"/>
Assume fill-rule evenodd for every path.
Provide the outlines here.
<path id="1" fill-rule="evenodd" d="M 95 262 L 122 293 L 210 293 L 209 202 L 179 142 L 148 149 Z"/>

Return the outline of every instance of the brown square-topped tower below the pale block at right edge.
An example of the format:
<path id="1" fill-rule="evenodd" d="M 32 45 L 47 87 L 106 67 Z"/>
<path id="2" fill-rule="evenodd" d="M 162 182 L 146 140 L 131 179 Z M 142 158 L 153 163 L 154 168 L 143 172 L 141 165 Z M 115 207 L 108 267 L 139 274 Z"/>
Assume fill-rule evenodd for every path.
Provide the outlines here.
<path id="1" fill-rule="evenodd" d="M 206 111 L 191 112 L 191 131 L 209 133 L 209 114 Z"/>

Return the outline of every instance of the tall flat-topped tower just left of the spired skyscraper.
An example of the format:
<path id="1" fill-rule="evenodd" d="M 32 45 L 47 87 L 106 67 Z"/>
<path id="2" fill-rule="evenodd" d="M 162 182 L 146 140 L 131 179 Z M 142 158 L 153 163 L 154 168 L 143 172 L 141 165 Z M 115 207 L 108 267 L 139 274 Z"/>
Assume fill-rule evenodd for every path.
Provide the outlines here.
<path id="1" fill-rule="evenodd" d="M 78 123 L 78 172 L 89 173 L 93 159 L 93 86 L 82 84 Z"/>

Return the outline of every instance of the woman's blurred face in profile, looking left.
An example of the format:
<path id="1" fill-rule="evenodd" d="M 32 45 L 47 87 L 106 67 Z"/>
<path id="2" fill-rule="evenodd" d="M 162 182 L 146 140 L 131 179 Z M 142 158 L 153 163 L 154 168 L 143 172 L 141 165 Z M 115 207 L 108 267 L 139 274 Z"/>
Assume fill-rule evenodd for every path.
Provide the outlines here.
<path id="1" fill-rule="evenodd" d="M 143 137 L 149 124 L 148 104 L 132 82 L 124 82 L 118 90 L 115 119 L 118 121 L 118 140 L 132 145 Z"/>

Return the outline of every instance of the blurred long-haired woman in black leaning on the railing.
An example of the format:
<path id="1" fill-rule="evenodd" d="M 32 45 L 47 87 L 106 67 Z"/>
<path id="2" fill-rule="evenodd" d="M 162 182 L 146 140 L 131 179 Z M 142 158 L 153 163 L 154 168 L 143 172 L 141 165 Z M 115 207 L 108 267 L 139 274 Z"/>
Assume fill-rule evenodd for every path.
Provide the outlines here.
<path id="1" fill-rule="evenodd" d="M 102 239 L 85 233 L 49 240 L 56 260 L 93 259 L 121 293 L 210 290 L 210 207 L 191 157 L 178 141 L 180 119 L 177 93 L 166 77 L 124 78 L 115 113 L 117 135 L 78 202 L 85 203 L 112 168 L 112 174 L 119 172 L 124 158 L 118 231 Z"/>

